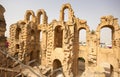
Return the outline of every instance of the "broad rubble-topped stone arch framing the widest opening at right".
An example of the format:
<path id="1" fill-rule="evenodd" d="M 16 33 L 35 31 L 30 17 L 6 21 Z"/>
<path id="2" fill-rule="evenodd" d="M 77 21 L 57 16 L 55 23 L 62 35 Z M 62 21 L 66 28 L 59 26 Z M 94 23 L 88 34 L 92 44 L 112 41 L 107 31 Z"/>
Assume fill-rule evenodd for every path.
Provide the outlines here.
<path id="1" fill-rule="evenodd" d="M 114 18 L 111 15 L 101 17 L 101 23 L 99 24 L 96 30 L 98 45 L 100 44 L 100 30 L 104 27 L 108 27 L 112 30 L 112 46 L 114 46 L 113 41 L 115 40 L 115 30 L 119 28 L 117 18 Z"/>

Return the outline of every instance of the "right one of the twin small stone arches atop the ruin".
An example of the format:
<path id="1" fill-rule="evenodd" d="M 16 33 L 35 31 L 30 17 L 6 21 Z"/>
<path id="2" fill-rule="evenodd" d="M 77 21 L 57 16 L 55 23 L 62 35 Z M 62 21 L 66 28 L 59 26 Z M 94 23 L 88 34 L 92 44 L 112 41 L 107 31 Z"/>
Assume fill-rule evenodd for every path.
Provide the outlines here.
<path id="1" fill-rule="evenodd" d="M 48 17 L 46 15 L 46 12 L 44 11 L 44 9 L 39 9 L 37 11 L 37 23 L 41 24 L 40 20 L 41 20 L 41 15 L 43 15 L 43 19 L 42 19 L 42 23 L 43 24 L 47 24 L 48 21 Z"/>

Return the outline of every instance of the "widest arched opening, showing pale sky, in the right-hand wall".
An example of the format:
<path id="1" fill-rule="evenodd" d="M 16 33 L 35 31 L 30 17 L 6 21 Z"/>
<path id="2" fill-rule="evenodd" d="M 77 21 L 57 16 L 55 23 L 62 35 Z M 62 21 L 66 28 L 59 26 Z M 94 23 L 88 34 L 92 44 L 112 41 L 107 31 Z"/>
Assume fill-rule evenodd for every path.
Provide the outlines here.
<path id="1" fill-rule="evenodd" d="M 100 30 L 100 47 L 112 48 L 113 33 L 112 29 L 105 27 Z"/>

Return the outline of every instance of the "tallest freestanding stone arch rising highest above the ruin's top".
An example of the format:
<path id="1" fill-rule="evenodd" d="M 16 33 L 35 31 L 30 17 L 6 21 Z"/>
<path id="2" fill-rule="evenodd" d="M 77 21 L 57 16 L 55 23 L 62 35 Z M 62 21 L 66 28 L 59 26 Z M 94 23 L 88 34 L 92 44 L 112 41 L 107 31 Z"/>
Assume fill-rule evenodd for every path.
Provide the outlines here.
<path id="1" fill-rule="evenodd" d="M 63 4 L 60 10 L 60 21 L 64 21 L 64 10 L 68 9 L 68 21 L 72 21 L 72 17 L 74 16 L 73 9 L 69 3 Z"/>

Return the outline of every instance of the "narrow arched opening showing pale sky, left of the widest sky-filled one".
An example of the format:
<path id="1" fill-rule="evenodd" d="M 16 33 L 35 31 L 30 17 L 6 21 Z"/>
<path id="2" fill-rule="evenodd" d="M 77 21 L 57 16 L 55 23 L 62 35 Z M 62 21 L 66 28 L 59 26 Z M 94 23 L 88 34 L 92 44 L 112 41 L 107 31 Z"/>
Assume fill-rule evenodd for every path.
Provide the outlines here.
<path id="1" fill-rule="evenodd" d="M 86 30 L 85 29 L 79 30 L 79 45 L 86 46 Z"/>

